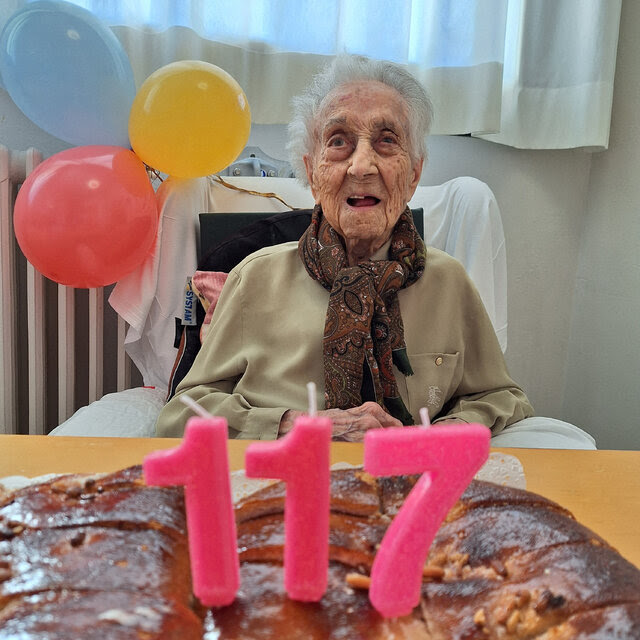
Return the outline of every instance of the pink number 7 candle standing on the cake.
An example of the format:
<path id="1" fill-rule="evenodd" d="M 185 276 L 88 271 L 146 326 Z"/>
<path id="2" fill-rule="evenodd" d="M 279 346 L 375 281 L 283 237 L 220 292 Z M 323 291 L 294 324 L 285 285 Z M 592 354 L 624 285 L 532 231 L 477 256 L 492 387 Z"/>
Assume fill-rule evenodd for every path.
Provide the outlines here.
<path id="1" fill-rule="evenodd" d="M 480 424 L 374 429 L 365 435 L 369 473 L 423 474 L 387 530 L 371 569 L 369 599 L 383 616 L 408 615 L 418 605 L 429 547 L 487 459 L 489 439 L 489 429 Z"/>

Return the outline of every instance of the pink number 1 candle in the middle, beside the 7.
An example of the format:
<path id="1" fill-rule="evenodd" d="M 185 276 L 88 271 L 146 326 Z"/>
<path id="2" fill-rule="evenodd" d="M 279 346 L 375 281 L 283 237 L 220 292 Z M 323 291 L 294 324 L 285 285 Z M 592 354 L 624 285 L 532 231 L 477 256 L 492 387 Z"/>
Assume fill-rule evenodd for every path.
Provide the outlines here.
<path id="1" fill-rule="evenodd" d="M 302 416 L 284 438 L 245 454 L 247 476 L 287 483 L 284 586 L 293 600 L 317 602 L 327 589 L 330 444 L 331 420 Z"/>

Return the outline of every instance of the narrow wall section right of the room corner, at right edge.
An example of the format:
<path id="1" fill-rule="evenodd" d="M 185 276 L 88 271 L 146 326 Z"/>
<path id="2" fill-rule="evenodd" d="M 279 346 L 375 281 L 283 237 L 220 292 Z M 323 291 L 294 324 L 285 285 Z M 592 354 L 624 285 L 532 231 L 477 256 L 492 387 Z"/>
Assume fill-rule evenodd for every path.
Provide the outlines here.
<path id="1" fill-rule="evenodd" d="M 624 0 L 611 139 L 593 157 L 564 414 L 601 448 L 640 449 L 640 3 Z"/>

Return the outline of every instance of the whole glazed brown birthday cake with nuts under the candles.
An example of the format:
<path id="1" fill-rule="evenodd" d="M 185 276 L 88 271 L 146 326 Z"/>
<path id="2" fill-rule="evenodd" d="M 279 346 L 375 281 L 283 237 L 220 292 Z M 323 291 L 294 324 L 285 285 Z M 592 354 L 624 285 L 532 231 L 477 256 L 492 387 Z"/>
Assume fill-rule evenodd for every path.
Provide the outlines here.
<path id="1" fill-rule="evenodd" d="M 640 638 L 640 570 L 561 506 L 477 480 L 436 535 L 420 605 L 380 616 L 372 562 L 414 482 L 332 472 L 318 603 L 284 591 L 284 485 L 240 500 L 241 586 L 214 610 L 192 595 L 181 489 L 134 467 L 0 494 L 0 639 Z"/>

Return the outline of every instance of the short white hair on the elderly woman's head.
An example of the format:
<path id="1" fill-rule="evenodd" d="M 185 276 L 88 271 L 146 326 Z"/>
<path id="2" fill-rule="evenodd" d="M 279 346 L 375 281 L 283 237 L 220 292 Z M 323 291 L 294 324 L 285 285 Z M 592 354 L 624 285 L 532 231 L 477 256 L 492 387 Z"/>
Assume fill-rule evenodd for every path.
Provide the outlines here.
<path id="1" fill-rule="evenodd" d="M 382 82 L 395 89 L 407 105 L 412 160 L 426 158 L 426 137 L 433 120 L 433 106 L 423 86 L 405 68 L 386 60 L 340 55 L 313 77 L 311 84 L 291 104 L 287 150 L 296 177 L 307 183 L 303 156 L 313 152 L 316 119 L 326 96 L 336 87 L 360 80 Z"/>

